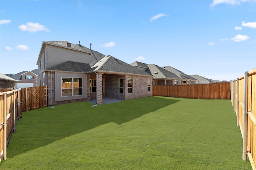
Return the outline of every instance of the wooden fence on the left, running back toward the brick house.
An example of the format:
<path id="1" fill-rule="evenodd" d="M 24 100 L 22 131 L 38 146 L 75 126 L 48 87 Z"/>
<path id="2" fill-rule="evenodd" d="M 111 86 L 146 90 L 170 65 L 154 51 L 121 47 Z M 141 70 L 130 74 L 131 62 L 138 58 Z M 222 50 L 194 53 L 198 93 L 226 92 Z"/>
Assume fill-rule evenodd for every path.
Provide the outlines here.
<path id="1" fill-rule="evenodd" d="M 47 91 L 47 86 L 0 89 L 0 161 L 6 160 L 6 149 L 22 112 L 47 107 Z"/>

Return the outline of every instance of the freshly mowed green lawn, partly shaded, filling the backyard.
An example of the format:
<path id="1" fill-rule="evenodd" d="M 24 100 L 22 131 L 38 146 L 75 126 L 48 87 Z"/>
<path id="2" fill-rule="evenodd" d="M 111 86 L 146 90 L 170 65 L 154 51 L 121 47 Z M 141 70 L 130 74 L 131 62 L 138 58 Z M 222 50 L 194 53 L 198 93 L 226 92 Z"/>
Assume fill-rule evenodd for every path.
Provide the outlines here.
<path id="1" fill-rule="evenodd" d="M 230 100 L 147 97 L 22 114 L 1 170 L 252 169 Z"/>

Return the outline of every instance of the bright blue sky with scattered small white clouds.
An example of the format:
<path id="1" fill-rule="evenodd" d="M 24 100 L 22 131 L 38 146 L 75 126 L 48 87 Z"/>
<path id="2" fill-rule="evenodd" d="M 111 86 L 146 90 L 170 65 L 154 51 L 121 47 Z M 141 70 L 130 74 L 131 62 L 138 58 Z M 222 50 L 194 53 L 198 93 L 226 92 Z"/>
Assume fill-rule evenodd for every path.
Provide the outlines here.
<path id="1" fill-rule="evenodd" d="M 37 68 L 42 41 L 234 80 L 256 67 L 256 0 L 0 1 L 2 74 Z"/>

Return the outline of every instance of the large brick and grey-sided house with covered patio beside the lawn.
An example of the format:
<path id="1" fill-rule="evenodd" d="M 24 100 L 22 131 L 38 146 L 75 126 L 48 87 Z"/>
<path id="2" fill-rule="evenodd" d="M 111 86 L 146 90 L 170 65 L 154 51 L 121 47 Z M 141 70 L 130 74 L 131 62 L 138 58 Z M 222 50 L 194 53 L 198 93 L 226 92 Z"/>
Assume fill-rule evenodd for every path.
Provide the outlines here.
<path id="1" fill-rule="evenodd" d="M 48 85 L 50 105 L 152 96 L 152 75 L 110 55 L 68 41 L 43 41 L 38 83 Z"/>

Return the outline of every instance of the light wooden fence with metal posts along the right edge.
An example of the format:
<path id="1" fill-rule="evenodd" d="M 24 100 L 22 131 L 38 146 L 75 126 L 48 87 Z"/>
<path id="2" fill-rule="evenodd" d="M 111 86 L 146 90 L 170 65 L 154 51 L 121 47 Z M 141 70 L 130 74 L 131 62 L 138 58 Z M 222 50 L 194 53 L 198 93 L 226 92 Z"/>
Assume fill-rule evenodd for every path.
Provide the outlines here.
<path id="1" fill-rule="evenodd" d="M 256 68 L 230 82 L 232 105 L 243 137 L 243 160 L 256 169 Z"/>

